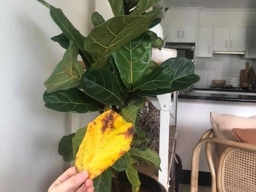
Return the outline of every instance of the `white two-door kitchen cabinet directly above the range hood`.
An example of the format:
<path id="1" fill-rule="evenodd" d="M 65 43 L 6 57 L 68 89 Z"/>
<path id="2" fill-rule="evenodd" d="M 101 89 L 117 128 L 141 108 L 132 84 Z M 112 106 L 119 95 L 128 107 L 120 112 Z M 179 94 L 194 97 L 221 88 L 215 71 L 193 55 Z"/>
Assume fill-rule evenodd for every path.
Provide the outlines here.
<path id="1" fill-rule="evenodd" d="M 245 51 L 246 28 L 215 28 L 213 51 Z"/>

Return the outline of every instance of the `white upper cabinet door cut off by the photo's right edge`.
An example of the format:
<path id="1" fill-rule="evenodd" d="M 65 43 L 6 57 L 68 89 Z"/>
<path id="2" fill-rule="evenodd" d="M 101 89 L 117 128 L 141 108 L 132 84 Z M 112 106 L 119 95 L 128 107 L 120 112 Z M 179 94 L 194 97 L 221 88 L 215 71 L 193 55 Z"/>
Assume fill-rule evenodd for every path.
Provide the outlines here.
<path id="1" fill-rule="evenodd" d="M 256 28 L 247 29 L 245 58 L 256 58 Z"/>

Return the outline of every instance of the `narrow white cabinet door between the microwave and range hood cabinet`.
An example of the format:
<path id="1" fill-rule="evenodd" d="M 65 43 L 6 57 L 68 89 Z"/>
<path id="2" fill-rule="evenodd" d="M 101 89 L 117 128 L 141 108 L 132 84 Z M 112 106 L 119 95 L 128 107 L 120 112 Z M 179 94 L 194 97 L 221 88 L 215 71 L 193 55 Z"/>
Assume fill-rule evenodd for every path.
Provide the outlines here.
<path id="1" fill-rule="evenodd" d="M 196 41 L 197 57 L 212 57 L 212 28 L 198 28 Z"/>

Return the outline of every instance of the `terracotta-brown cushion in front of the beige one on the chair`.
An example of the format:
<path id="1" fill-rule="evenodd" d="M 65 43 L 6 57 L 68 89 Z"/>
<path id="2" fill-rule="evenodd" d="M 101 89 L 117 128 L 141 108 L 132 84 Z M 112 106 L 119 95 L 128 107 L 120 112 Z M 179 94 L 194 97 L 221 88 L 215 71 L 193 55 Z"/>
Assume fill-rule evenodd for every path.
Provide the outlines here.
<path id="1" fill-rule="evenodd" d="M 256 144 L 256 128 L 255 129 L 232 129 L 234 137 L 239 142 L 246 142 L 251 144 Z"/>

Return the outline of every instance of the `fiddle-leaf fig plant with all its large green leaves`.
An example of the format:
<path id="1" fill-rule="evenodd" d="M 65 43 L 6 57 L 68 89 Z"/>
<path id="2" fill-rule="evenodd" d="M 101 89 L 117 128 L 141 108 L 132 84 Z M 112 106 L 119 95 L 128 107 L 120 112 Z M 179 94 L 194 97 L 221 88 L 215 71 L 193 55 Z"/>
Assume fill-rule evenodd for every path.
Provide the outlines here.
<path id="1" fill-rule="evenodd" d="M 67 49 L 62 60 L 45 81 L 44 101 L 47 108 L 59 112 L 87 113 L 113 110 L 134 125 L 132 146 L 99 177 L 94 179 L 95 191 L 110 191 L 112 178 L 125 171 L 133 192 L 139 191 L 140 180 L 131 166 L 137 159 L 153 163 L 160 169 L 156 152 L 138 146 L 148 138 L 137 125 L 138 112 L 145 98 L 184 90 L 199 80 L 193 63 L 186 58 L 169 58 L 161 65 L 151 61 L 152 48 L 161 49 L 163 41 L 148 30 L 161 19 L 160 9 L 146 12 L 161 0 L 109 0 L 114 17 L 109 20 L 97 12 L 92 15 L 94 28 L 84 37 L 63 12 L 43 0 L 62 33 L 51 39 Z M 84 71 L 77 56 L 80 55 Z M 65 161 L 75 159 L 86 135 L 87 126 L 64 136 L 58 153 Z"/>

